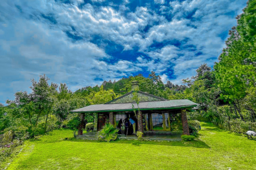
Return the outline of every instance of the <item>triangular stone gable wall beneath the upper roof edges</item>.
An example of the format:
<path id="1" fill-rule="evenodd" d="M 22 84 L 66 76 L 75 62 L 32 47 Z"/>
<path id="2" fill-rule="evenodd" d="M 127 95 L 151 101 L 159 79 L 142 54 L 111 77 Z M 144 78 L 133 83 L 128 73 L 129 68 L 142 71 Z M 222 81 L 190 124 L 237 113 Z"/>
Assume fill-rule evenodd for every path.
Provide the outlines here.
<path id="1" fill-rule="evenodd" d="M 161 99 L 159 99 L 159 98 L 155 98 L 155 97 L 150 96 L 150 95 L 141 94 L 140 92 L 138 92 L 138 96 L 139 96 L 140 102 L 141 102 L 141 101 L 160 101 L 160 100 L 161 100 Z M 124 97 L 122 97 L 122 98 L 120 98 L 120 99 L 117 99 L 117 100 L 115 100 L 115 101 L 112 101 L 111 104 L 135 102 L 135 100 L 133 100 L 132 98 L 133 98 L 133 95 L 132 95 L 132 94 L 129 94 L 129 95 L 124 96 Z"/>

